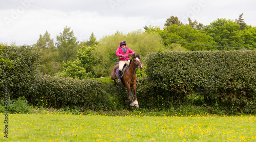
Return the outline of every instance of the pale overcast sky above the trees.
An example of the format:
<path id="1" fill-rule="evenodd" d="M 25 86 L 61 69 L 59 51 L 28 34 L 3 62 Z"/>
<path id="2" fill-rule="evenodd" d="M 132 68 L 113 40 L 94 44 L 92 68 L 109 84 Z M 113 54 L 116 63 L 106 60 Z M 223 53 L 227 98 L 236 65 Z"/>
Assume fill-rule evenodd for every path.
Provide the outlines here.
<path id="1" fill-rule="evenodd" d="M 209 25 L 218 18 L 238 19 L 243 13 L 247 25 L 256 27 L 255 6 L 255 0 L 0 0 L 0 43 L 32 45 L 46 31 L 56 40 L 66 26 L 80 41 L 88 40 L 92 32 L 99 40 L 144 26 L 162 29 L 170 16 Z"/>

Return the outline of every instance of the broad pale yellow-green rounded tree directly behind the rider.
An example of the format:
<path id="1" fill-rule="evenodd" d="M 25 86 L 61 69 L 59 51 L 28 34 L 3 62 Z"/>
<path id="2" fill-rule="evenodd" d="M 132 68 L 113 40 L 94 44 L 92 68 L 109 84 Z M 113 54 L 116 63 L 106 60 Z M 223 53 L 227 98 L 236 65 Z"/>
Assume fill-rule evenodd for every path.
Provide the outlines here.
<path id="1" fill-rule="evenodd" d="M 136 54 L 141 55 L 142 63 L 147 53 L 165 50 L 165 46 L 158 34 L 142 32 L 141 30 L 128 34 L 118 32 L 104 36 L 99 40 L 99 44 L 92 53 L 98 61 L 93 67 L 95 77 L 110 76 L 112 67 L 118 62 L 116 50 L 120 41 L 123 40 L 126 41 L 126 46 L 129 46 Z"/>

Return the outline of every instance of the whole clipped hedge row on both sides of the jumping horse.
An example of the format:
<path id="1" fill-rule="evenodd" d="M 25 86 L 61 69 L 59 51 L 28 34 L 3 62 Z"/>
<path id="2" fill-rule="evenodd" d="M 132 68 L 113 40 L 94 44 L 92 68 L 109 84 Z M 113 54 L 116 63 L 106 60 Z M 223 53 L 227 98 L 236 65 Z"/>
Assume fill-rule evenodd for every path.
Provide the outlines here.
<path id="1" fill-rule="evenodd" d="M 0 45 L 0 98 L 25 97 L 45 108 L 130 108 L 126 88 L 95 80 L 39 76 L 40 52 L 32 46 Z M 184 103 L 228 113 L 256 112 L 256 51 L 155 52 L 144 59 L 137 83 L 143 109 L 172 110 Z M 2 100 L 2 99 L 1 99 Z M 215 113 L 215 112 L 213 112 Z"/>

